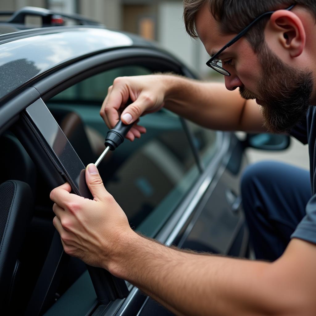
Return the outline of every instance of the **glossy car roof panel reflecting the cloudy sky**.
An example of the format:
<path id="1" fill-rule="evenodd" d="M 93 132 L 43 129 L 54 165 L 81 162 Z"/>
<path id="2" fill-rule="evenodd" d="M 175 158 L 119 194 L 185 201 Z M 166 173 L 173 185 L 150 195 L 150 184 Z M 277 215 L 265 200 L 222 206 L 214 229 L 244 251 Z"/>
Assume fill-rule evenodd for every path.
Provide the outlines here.
<path id="1" fill-rule="evenodd" d="M 0 100 L 67 63 L 123 47 L 157 49 L 142 38 L 104 26 L 58 26 L 0 35 Z"/>

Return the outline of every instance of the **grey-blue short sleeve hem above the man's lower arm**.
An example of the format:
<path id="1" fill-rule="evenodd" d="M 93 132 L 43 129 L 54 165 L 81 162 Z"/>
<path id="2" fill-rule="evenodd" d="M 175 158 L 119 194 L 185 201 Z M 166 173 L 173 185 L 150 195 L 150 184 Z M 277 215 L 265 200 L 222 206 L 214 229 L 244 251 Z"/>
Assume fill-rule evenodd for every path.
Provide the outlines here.
<path id="1" fill-rule="evenodd" d="M 306 205 L 306 216 L 297 225 L 291 238 L 299 238 L 316 244 L 316 194 Z"/>

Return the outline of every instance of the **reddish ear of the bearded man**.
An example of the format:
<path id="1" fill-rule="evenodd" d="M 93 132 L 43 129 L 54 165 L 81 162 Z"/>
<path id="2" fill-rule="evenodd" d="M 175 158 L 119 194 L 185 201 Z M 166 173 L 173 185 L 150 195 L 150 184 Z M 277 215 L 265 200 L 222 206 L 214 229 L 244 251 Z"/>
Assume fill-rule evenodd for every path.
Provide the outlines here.
<path id="1" fill-rule="evenodd" d="M 277 10 L 268 22 L 270 31 L 278 36 L 278 42 L 289 51 L 291 57 L 298 57 L 306 44 L 306 32 L 301 19 L 288 10 Z"/>

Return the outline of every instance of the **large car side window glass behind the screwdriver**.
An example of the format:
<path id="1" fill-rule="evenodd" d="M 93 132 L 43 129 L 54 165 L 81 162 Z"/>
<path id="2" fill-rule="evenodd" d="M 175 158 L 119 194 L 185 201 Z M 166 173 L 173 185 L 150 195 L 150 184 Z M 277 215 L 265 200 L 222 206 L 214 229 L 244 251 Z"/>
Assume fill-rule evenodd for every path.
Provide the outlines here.
<path id="1" fill-rule="evenodd" d="M 133 75 L 133 69 L 136 75 L 149 73 L 135 66 L 108 70 L 46 102 L 85 165 L 95 162 L 105 148 L 108 128 L 99 112 L 108 86 L 118 74 Z M 90 90 L 96 82 L 98 92 Z M 98 169 L 131 226 L 153 237 L 196 181 L 198 169 L 177 115 L 163 109 L 142 117 L 140 124 L 147 133 L 134 142 L 125 140 Z"/>

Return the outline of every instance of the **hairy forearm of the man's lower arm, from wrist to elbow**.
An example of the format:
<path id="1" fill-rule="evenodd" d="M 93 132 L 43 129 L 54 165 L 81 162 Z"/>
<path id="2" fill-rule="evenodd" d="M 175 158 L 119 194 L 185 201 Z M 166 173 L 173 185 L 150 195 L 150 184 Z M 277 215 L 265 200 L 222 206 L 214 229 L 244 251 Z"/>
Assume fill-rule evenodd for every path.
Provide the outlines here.
<path id="1" fill-rule="evenodd" d="M 137 234 L 110 272 L 179 315 L 265 315 L 271 312 L 270 263 L 181 252 Z M 278 293 L 277 293 L 278 294 Z"/>

